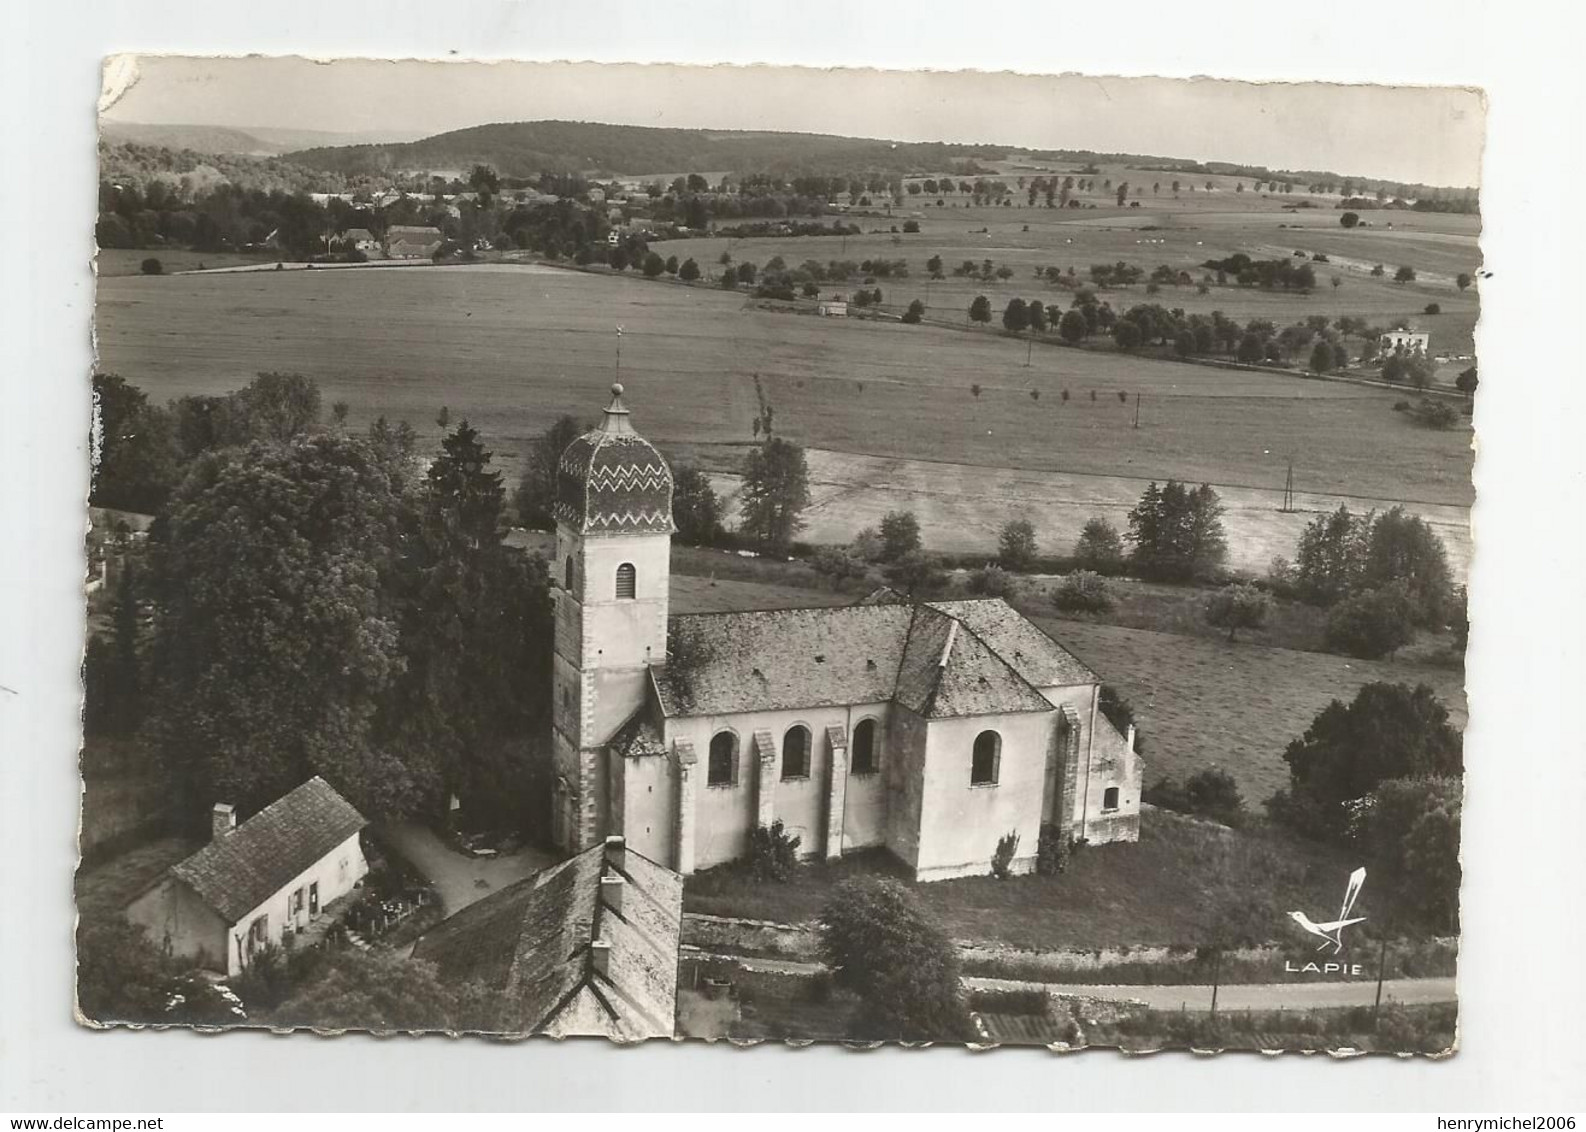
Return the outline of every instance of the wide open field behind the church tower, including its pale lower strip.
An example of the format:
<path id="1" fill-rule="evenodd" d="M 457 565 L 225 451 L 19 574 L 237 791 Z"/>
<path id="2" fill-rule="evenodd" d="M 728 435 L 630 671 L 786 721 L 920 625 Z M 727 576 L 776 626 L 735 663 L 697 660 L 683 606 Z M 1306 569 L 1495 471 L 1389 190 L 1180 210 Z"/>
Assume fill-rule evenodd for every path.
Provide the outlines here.
<path id="1" fill-rule="evenodd" d="M 157 401 L 303 373 L 327 404 L 347 401 L 352 426 L 384 414 L 436 441 L 447 404 L 509 477 L 558 414 L 598 412 L 619 373 L 619 325 L 646 436 L 712 472 L 736 471 L 753 439 L 758 377 L 777 433 L 818 450 L 812 533 L 837 511 L 869 522 L 901 491 L 926 511 L 928 496 L 947 501 L 933 520 L 942 549 L 991 545 L 1002 517 L 1031 506 L 1058 509 L 1056 545 L 1082 511 L 1117 517 L 1147 480 L 1177 477 L 1228 490 L 1250 517 L 1242 561 L 1261 568 L 1297 531 L 1275 511 L 1293 460 L 1316 509 L 1424 506 L 1464 560 L 1470 434 L 1415 426 L 1393 412 L 1393 390 L 1058 346 L 1026 366 L 1026 346 L 1001 335 L 818 319 L 711 287 L 531 265 L 98 284 L 100 365 Z M 974 522 L 960 525 L 966 509 Z"/>

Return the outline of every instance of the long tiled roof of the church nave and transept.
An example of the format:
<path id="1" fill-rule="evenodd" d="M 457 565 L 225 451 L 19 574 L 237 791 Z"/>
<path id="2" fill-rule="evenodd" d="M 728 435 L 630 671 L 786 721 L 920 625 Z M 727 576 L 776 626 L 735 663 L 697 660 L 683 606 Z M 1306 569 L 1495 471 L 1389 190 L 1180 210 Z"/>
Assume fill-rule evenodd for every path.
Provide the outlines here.
<path id="1" fill-rule="evenodd" d="M 1096 683 L 1001 598 L 682 614 L 657 698 L 669 717 L 898 701 L 928 718 L 1052 710 Z"/>

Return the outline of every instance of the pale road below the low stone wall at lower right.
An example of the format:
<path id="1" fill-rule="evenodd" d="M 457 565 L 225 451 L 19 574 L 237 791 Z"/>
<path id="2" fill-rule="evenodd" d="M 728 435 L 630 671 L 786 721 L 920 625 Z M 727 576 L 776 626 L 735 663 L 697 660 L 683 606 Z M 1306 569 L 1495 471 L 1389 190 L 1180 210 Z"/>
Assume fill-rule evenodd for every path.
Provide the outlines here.
<path id="1" fill-rule="evenodd" d="M 964 980 L 977 991 L 1048 991 L 1112 1002 L 1144 1002 L 1153 1010 L 1210 1010 L 1212 988 L 1194 986 L 1118 986 L 1083 983 L 1026 983 L 1013 978 Z M 1454 1002 L 1453 978 L 1389 978 L 1383 983 L 1383 1002 L 1424 1005 Z M 1218 988 L 1218 1010 L 1315 1010 L 1324 1007 L 1369 1007 L 1377 1000 L 1377 980 L 1356 978 L 1347 983 L 1232 983 Z"/>

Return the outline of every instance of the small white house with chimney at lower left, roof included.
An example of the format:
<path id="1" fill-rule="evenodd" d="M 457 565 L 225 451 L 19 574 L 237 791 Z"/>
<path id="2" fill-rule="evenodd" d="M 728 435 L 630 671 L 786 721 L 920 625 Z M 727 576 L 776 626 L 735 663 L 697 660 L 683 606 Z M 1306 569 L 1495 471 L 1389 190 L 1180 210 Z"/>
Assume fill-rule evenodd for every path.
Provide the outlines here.
<path id="1" fill-rule="evenodd" d="M 241 824 L 232 805 L 216 805 L 209 843 L 136 896 L 127 918 L 170 954 L 236 975 L 363 880 L 365 824 L 319 777 Z"/>

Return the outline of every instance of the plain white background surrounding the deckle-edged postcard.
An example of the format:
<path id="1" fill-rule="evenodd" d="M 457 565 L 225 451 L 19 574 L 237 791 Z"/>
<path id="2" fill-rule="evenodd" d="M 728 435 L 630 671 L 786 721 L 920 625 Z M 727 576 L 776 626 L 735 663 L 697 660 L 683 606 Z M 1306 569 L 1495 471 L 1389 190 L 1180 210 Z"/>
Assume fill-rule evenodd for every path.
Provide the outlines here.
<path id="1" fill-rule="evenodd" d="M 0 1111 L 676 1105 L 1581 1108 L 1581 40 L 1565 5 L 117 3 L 0 21 Z M 1477 84 L 1491 98 L 1462 1050 L 1426 1059 L 852 1053 L 187 1032 L 70 1018 L 100 57 L 774 62 Z M 988 120 L 985 136 L 1006 132 Z M 842 122 L 831 122 L 842 132 Z M 1383 122 L 1393 130 L 1393 122 Z M 1370 173 L 1370 170 L 1340 170 Z"/>

